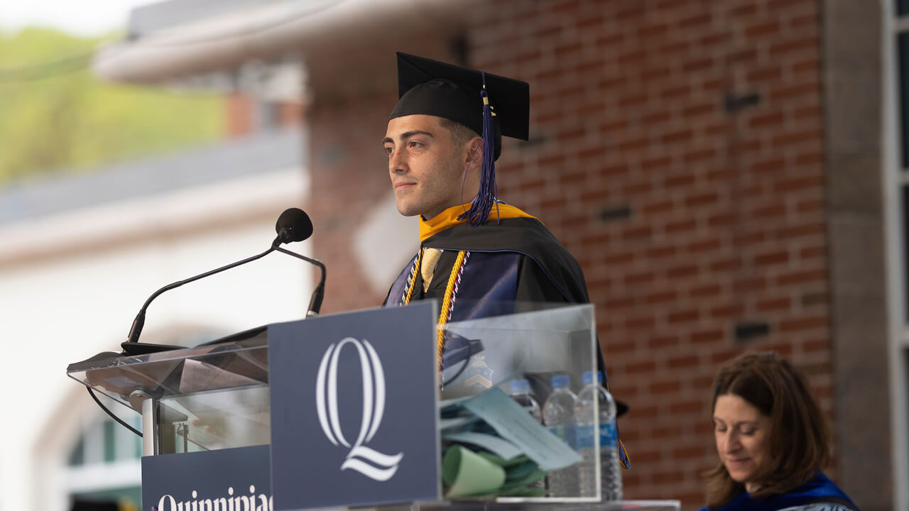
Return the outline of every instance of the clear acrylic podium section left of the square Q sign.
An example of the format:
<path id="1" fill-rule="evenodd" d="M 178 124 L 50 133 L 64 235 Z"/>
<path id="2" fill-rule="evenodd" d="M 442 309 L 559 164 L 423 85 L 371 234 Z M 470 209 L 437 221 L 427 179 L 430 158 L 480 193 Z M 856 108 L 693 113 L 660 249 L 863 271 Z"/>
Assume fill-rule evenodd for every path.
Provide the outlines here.
<path id="1" fill-rule="evenodd" d="M 266 332 L 145 355 L 101 354 L 66 373 L 142 414 L 144 456 L 267 445 Z"/>

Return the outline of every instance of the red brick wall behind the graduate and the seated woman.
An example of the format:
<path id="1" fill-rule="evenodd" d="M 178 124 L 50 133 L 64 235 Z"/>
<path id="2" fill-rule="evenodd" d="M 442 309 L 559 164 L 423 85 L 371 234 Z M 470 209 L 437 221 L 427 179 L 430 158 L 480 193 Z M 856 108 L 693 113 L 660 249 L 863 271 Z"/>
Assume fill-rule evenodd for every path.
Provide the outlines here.
<path id="1" fill-rule="evenodd" d="M 833 414 L 818 9 L 497 0 L 472 11 L 469 64 L 531 84 L 534 143 L 506 142 L 499 192 L 584 268 L 614 392 L 631 407 L 620 420 L 629 498 L 703 505 L 710 386 L 746 349 L 791 357 Z M 365 292 L 349 233 L 390 193 L 377 142 L 395 103 L 387 79 L 368 97 L 316 97 L 309 118 L 326 311 L 382 298 Z M 759 102 L 725 111 L 726 95 L 748 94 Z M 738 322 L 770 331 L 736 341 Z"/>

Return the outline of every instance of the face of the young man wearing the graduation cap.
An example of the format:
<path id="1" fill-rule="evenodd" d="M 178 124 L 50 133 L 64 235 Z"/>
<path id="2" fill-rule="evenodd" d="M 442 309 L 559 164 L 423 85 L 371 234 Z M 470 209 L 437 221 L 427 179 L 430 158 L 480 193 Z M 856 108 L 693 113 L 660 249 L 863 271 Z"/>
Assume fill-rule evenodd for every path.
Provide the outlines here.
<path id="1" fill-rule="evenodd" d="M 469 149 L 454 144 L 439 117 L 395 117 L 388 121 L 382 144 L 401 215 L 430 219 L 448 207 L 470 202 L 476 195 L 478 180 L 464 183 Z"/>

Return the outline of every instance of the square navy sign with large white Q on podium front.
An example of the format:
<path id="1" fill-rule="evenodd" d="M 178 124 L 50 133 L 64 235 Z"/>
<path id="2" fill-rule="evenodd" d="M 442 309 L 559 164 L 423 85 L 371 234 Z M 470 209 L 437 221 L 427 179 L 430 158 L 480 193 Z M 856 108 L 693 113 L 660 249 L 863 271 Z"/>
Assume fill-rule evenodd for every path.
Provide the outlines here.
<path id="1" fill-rule="evenodd" d="M 275 510 L 440 499 L 434 332 L 435 304 L 269 326 Z"/>

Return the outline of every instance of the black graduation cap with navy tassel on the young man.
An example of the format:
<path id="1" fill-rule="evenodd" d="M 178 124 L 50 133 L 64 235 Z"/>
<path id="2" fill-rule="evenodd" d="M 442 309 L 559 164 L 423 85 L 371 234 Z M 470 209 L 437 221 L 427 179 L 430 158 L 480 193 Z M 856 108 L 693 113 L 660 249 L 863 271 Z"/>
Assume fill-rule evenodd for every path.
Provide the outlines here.
<path id="1" fill-rule="evenodd" d="M 502 135 L 528 138 L 530 85 L 400 52 L 397 69 L 399 99 L 389 119 L 405 115 L 444 117 L 473 129 L 483 136 L 485 147 L 494 147 L 493 151 L 484 149 L 480 194 L 467 215 L 472 225 L 483 224 L 495 203 L 494 160 L 502 153 Z"/>

